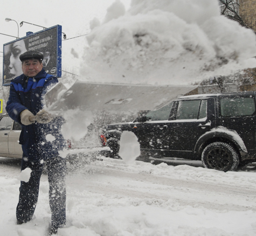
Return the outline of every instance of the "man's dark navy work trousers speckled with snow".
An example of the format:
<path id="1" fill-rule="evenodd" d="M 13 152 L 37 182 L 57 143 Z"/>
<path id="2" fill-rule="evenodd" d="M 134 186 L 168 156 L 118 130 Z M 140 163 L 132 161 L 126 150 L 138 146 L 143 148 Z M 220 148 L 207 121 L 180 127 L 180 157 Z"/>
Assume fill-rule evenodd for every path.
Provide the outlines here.
<path id="1" fill-rule="evenodd" d="M 49 202 L 52 212 L 52 228 L 59 228 L 66 222 L 66 159 L 61 157 L 50 158 L 44 162 L 47 169 L 49 181 Z M 32 170 L 29 182 L 20 182 L 19 202 L 16 209 L 17 220 L 21 222 L 30 221 L 36 209 L 40 177 L 43 165 L 32 162 L 26 157 L 22 158 L 22 170 Z"/>

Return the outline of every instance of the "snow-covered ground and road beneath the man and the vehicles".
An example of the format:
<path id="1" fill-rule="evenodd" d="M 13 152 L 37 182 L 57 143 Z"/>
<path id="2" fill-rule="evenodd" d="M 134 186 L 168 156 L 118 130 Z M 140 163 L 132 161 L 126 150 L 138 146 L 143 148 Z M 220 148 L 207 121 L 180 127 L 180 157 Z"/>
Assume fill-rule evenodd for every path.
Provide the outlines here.
<path id="1" fill-rule="evenodd" d="M 189 165 L 102 157 L 68 172 L 67 224 L 61 236 L 256 235 L 256 175 Z M 50 227 L 47 176 L 34 218 L 16 225 L 19 161 L 0 158 L 4 236 L 44 236 Z"/>

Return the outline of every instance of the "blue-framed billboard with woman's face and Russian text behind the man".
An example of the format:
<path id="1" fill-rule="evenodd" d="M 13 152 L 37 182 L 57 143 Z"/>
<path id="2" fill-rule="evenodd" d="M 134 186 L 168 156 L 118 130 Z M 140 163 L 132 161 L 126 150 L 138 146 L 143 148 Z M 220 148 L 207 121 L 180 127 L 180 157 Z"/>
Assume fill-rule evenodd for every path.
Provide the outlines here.
<path id="1" fill-rule="evenodd" d="M 10 85 L 12 79 L 23 74 L 19 55 L 30 50 L 44 54 L 46 73 L 61 77 L 61 31 L 61 25 L 56 25 L 4 44 L 3 85 Z"/>

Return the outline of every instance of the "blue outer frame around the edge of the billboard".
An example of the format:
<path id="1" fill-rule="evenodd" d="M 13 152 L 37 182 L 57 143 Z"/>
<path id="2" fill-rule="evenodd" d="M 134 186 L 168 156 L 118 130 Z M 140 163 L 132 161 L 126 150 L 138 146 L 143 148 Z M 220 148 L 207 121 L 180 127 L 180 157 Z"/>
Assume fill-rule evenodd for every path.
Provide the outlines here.
<path id="1" fill-rule="evenodd" d="M 56 45 L 56 74 L 54 74 L 54 76 L 56 76 L 57 78 L 60 78 L 61 77 L 61 48 L 62 48 L 62 40 L 61 40 L 61 37 L 62 37 L 62 26 L 61 25 L 54 25 L 52 27 L 49 27 L 47 29 L 44 29 L 44 30 L 41 30 L 41 31 L 38 31 L 38 32 L 35 32 L 35 33 L 30 33 L 30 32 L 27 32 L 27 35 L 25 37 L 22 37 L 22 38 L 19 38 L 19 39 L 16 39 L 16 40 L 13 40 L 13 41 L 10 41 L 6 44 L 3 45 L 3 78 L 2 78 L 2 85 L 3 86 L 10 86 L 11 82 L 4 82 L 4 60 L 5 60 L 5 51 L 4 51 L 4 48 L 6 45 L 9 45 L 9 44 L 13 44 L 19 40 L 23 40 L 23 39 L 27 39 L 27 38 L 30 38 L 30 37 L 33 37 L 33 36 L 37 36 L 38 34 L 40 33 L 44 33 L 46 31 L 49 31 L 49 30 L 52 30 L 56 28 L 57 30 L 57 45 Z M 49 73 L 51 74 L 51 73 Z"/>

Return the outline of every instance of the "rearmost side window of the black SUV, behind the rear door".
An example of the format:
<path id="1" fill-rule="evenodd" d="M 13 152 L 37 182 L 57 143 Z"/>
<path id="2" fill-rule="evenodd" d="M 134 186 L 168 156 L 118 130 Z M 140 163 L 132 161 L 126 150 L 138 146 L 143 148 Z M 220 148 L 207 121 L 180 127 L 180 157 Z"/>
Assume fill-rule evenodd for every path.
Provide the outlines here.
<path id="1" fill-rule="evenodd" d="M 222 116 L 248 116 L 255 112 L 254 98 L 221 98 L 220 113 Z"/>

